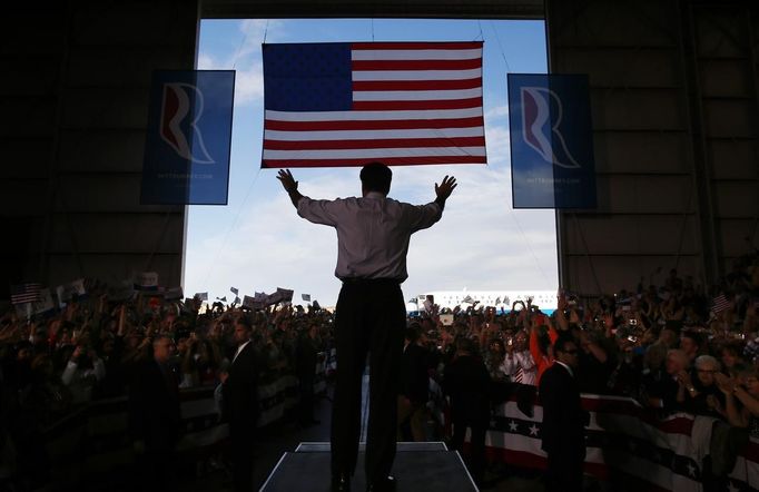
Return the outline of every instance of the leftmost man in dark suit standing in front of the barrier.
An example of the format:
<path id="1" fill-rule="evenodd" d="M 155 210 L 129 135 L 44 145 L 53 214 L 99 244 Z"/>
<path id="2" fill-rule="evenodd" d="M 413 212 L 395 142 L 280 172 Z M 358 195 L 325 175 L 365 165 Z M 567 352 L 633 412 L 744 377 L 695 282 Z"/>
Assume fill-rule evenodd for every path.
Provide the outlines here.
<path id="1" fill-rule="evenodd" d="M 152 357 L 140 364 L 130 385 L 130 427 L 145 445 L 144 483 L 151 491 L 170 491 L 175 447 L 179 439 L 180 410 L 176 373 L 169 364 L 174 342 L 159 336 Z"/>

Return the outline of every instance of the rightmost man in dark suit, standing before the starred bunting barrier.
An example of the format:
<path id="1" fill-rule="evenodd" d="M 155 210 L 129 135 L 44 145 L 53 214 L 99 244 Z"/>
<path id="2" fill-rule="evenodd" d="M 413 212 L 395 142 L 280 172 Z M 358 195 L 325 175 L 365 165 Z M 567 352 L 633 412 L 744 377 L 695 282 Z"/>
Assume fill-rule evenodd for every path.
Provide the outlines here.
<path id="1" fill-rule="evenodd" d="M 562 334 L 553 344 L 555 361 L 540 380 L 543 405 L 542 449 L 549 455 L 546 491 L 582 491 L 585 460 L 585 425 L 589 414 L 582 409 L 575 377 L 578 345 Z"/>

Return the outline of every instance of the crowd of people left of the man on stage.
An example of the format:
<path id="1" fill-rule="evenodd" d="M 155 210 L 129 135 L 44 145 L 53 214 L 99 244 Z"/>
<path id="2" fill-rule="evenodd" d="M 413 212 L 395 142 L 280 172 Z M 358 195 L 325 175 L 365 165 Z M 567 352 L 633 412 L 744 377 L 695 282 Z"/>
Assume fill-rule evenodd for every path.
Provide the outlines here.
<path id="1" fill-rule="evenodd" d="M 141 397 L 146 364 L 154 358 L 179 392 L 220 388 L 236 356 L 239 324 L 255 327 L 249 337 L 260 385 L 296 375 L 313 388 L 316 363 L 331 352 L 334 314 L 326 309 L 287 305 L 254 312 L 147 292 L 110 302 L 106 291 L 91 288 L 59 312 L 28 318 L 9 306 L 0 317 L 0 480 L 43 482 L 50 465 L 46 430 L 92 401 L 127 397 L 130 413 L 139 413 L 131 402 Z M 313 394 L 304 388 L 300 400 L 305 407 L 295 417 L 313 423 Z M 141 441 L 142 422 L 132 414 L 130 432 Z"/>

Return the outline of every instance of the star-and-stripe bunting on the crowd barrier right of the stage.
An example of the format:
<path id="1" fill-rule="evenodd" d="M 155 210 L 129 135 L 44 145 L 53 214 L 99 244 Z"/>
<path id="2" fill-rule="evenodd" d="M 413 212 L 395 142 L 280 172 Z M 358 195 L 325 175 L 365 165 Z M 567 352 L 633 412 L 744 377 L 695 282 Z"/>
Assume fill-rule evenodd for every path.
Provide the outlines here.
<path id="1" fill-rule="evenodd" d="M 687 413 L 661 416 L 628 397 L 583 394 L 582 402 L 591 414 L 585 432 L 586 473 L 602 480 L 623 474 L 644 490 L 702 490 L 700 463 L 710 449 L 714 419 Z M 542 420 L 539 404 L 531 417 L 515 400 L 499 406 L 485 437 L 491 457 L 544 469 Z M 721 485 L 726 491 L 759 489 L 759 439 L 751 437 Z"/>

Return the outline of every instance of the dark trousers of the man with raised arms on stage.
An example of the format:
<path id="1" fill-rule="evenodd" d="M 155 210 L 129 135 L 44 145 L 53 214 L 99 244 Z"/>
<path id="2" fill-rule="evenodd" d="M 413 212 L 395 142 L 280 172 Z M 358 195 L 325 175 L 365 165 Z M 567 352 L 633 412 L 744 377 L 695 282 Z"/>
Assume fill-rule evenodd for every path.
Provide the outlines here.
<path id="1" fill-rule="evenodd" d="M 395 460 L 397 367 L 403 353 L 406 307 L 397 283 L 344 283 L 337 298 L 337 375 L 332 409 L 333 473 L 353 474 L 361 433 L 361 386 L 369 355 L 369 417 L 366 480 L 388 475 Z"/>

